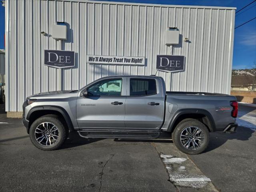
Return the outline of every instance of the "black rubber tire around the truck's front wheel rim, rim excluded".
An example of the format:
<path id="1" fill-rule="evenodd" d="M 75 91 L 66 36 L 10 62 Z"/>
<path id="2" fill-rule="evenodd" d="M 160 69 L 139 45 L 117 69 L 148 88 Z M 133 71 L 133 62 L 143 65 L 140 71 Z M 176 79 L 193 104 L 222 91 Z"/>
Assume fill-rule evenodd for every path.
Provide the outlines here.
<path id="1" fill-rule="evenodd" d="M 43 122 L 53 123 L 54 125 L 56 125 L 56 127 L 58 128 L 58 131 L 59 131 L 58 140 L 56 141 L 56 143 L 54 143 L 50 146 L 44 146 L 44 145 L 39 144 L 35 138 L 35 130 L 36 130 L 37 126 Z M 50 151 L 50 150 L 57 150 L 62 146 L 62 144 L 66 140 L 66 132 L 67 132 L 67 130 L 66 130 L 64 124 L 62 123 L 62 121 L 58 118 L 58 116 L 51 114 L 51 115 L 44 115 L 44 116 L 36 119 L 30 126 L 29 135 L 30 135 L 30 140 L 34 144 L 34 146 L 36 146 L 38 149 L 41 149 L 41 150 Z"/>

